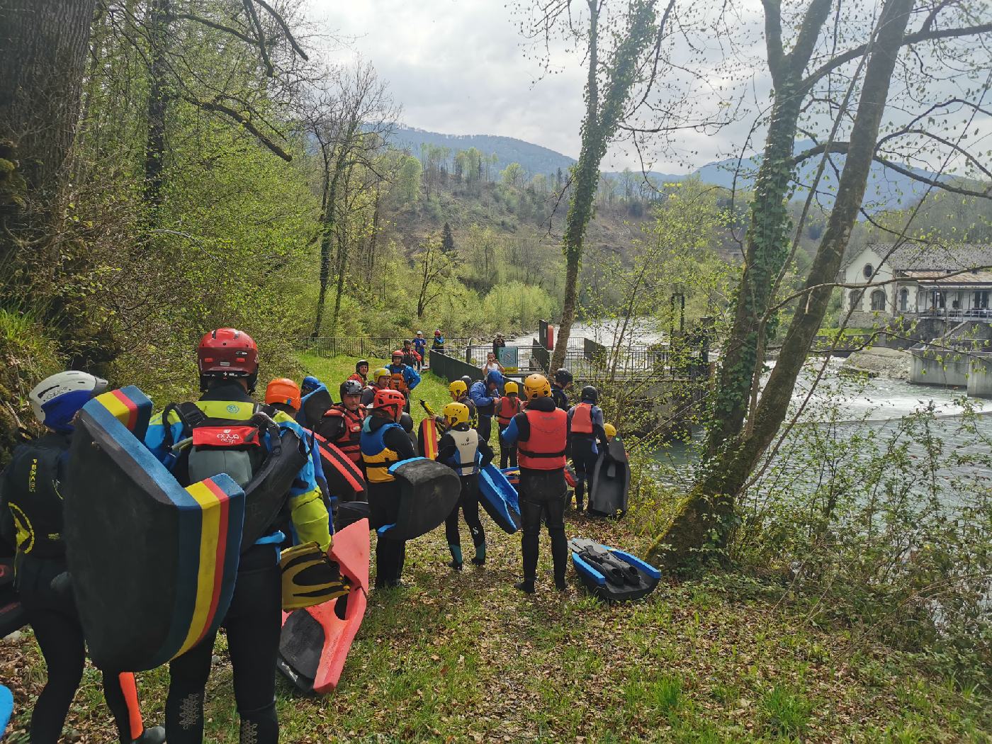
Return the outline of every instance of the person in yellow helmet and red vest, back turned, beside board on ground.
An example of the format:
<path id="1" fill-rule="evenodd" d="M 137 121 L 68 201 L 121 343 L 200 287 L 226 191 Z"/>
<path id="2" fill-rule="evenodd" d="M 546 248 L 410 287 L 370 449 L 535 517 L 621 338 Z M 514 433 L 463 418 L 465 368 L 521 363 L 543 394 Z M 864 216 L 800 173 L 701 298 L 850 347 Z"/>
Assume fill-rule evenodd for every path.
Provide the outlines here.
<path id="1" fill-rule="evenodd" d="M 564 537 L 565 450 L 568 442 L 568 415 L 555 405 L 552 386 L 544 375 L 524 380 L 527 410 L 517 414 L 500 438 L 519 448 L 520 519 L 524 530 L 521 548 L 524 580 L 515 584 L 521 591 L 534 593 L 538 575 L 541 523 L 548 526 L 552 539 L 555 586 L 565 588 L 564 572 L 568 543 Z"/>

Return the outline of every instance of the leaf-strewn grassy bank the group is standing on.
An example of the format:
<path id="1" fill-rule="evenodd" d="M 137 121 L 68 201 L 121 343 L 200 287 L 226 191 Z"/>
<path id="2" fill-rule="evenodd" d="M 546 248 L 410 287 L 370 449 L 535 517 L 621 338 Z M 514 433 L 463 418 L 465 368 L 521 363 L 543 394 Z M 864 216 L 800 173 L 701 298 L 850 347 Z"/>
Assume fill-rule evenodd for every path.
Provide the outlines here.
<path id="1" fill-rule="evenodd" d="M 302 362 L 333 384 L 350 369 Z M 426 375 L 423 393 L 442 403 L 445 385 Z M 646 548 L 623 522 L 567 517 L 569 537 Z M 441 530 L 409 545 L 407 586 L 372 592 L 336 692 L 307 697 L 279 682 L 282 741 L 989 740 L 987 699 L 924 676 L 908 656 L 852 644 L 845 629 L 814 627 L 802 606 L 746 577 L 666 582 L 645 601 L 608 607 L 571 572 L 568 590 L 553 590 L 544 539 L 539 593 L 527 596 L 512 587 L 519 536 L 484 524 L 482 568 L 445 567 Z M 206 740 L 232 744 L 219 646 Z M 20 710 L 30 706 L 44 681 L 30 633 L 0 645 L 0 679 L 14 681 Z M 140 676 L 150 721 L 162 719 L 167 682 L 162 670 Z M 70 723 L 81 741 L 111 740 L 93 670 Z"/>

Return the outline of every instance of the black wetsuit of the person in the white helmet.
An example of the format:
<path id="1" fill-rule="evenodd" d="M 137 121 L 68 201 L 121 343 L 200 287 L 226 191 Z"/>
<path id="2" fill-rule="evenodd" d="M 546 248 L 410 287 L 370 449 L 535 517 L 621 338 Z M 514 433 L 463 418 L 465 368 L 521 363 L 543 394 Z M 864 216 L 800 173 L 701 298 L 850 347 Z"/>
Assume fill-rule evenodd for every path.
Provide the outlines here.
<path id="1" fill-rule="evenodd" d="M 31 714 L 34 744 L 56 744 L 61 738 L 86 661 L 71 588 L 60 582 L 52 587 L 66 570 L 61 493 L 68 445 L 67 434 L 55 433 L 22 444 L 0 478 L 0 533 L 18 546 L 15 586 L 48 670 Z M 130 742 L 128 705 L 116 674 L 103 675 L 103 692 L 120 741 Z"/>

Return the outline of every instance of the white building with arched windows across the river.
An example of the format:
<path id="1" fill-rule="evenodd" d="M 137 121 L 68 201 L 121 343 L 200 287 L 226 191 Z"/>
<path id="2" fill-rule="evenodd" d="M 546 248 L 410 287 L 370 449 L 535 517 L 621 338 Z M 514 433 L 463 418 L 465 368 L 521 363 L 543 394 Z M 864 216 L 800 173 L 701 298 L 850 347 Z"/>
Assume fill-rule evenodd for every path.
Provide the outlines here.
<path id="1" fill-rule="evenodd" d="M 866 327 L 891 317 L 992 318 L 992 245 L 870 243 L 849 255 L 841 318 Z"/>

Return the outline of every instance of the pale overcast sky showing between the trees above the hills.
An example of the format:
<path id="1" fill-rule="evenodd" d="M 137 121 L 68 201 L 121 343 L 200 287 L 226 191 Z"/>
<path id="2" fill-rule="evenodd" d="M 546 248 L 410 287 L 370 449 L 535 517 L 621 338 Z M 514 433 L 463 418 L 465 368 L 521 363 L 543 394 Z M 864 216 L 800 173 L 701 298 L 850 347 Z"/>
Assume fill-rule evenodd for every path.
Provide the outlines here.
<path id="1" fill-rule="evenodd" d="M 361 56 L 372 62 L 402 105 L 404 124 L 445 134 L 517 137 L 575 158 L 583 107 L 582 62 L 575 55 L 563 54 L 562 45 L 552 57 L 557 73 L 536 79 L 539 63 L 525 55 L 519 21 L 505 7 L 507 1 L 305 0 L 310 19 L 324 33 L 348 40 L 328 46 L 330 60 L 347 62 Z M 689 0 L 685 7 L 688 10 L 683 12 L 691 13 L 702 6 Z M 723 7 L 728 6 L 724 3 Z M 655 171 L 688 173 L 736 152 L 749 134 L 754 139 L 747 154 L 754 152 L 755 144 L 761 146 L 764 130 L 750 132 L 758 108 L 768 102 L 770 86 L 761 2 L 740 0 L 729 7 L 732 10 L 718 34 L 692 37 L 695 57 L 687 57 L 692 52 L 684 44 L 677 45 L 682 67 L 701 74 L 689 95 L 672 95 L 666 101 L 682 101 L 683 115 L 721 110 L 716 101 L 726 95 L 716 88 L 721 80 L 732 77 L 736 92 L 747 99 L 746 109 L 729 113 L 731 123 L 718 133 L 680 132 L 676 153 L 648 153 L 653 160 L 649 166 Z M 723 60 L 734 61 L 734 67 L 717 68 Z M 662 79 L 660 84 L 666 82 L 671 80 Z M 950 94 L 939 90 L 934 94 L 945 92 Z M 891 91 L 890 104 L 893 95 Z M 887 115 L 899 116 L 897 111 L 898 106 L 890 105 Z M 961 117 L 970 113 L 964 110 Z M 974 122 L 976 134 L 981 131 L 983 138 L 992 137 L 992 117 L 979 119 Z M 624 167 L 638 170 L 641 161 L 629 146 L 614 147 L 603 170 Z"/>

